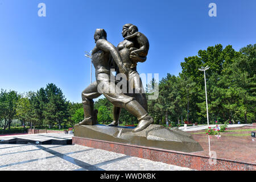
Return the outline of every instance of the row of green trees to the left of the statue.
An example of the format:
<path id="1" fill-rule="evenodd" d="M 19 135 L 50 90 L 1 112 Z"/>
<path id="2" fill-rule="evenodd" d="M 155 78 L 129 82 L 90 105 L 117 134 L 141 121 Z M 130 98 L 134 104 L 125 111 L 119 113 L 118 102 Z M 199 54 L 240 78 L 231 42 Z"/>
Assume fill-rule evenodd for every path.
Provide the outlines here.
<path id="1" fill-rule="evenodd" d="M 0 125 L 5 130 L 10 129 L 11 122 L 19 119 L 22 125 L 65 127 L 78 122 L 77 109 L 81 104 L 69 102 L 63 92 L 55 84 L 48 84 L 46 89 L 37 92 L 18 94 L 15 91 L 0 94 Z"/>

